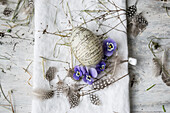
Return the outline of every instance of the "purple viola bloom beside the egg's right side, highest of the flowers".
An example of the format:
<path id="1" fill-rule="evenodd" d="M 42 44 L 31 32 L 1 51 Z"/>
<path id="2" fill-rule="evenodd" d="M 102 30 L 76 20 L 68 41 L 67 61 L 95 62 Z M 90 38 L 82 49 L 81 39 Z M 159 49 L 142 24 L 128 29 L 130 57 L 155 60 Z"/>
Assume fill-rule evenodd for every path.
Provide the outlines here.
<path id="1" fill-rule="evenodd" d="M 117 44 L 113 39 L 107 38 L 103 41 L 104 55 L 111 56 L 113 54 L 113 51 L 116 50 L 116 48 Z"/>

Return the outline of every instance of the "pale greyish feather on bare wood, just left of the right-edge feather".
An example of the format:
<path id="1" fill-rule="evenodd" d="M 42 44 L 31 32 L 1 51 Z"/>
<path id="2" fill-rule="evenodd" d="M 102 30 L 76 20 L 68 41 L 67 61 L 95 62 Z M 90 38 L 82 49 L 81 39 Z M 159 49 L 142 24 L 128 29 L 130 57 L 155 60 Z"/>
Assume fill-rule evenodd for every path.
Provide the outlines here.
<path id="1" fill-rule="evenodd" d="M 161 63 L 160 63 L 159 59 L 157 59 L 157 58 L 153 58 L 152 61 L 153 61 L 152 75 L 155 77 L 158 77 L 159 75 L 161 75 L 161 72 L 162 72 Z"/>

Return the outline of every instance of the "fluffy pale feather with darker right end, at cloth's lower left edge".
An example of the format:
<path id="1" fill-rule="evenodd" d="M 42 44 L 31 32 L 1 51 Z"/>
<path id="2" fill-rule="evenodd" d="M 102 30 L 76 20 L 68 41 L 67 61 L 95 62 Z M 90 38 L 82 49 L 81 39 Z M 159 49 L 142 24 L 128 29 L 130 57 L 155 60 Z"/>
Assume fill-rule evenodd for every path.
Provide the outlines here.
<path id="1" fill-rule="evenodd" d="M 33 95 L 40 100 L 50 99 L 54 97 L 54 90 L 35 89 Z"/>

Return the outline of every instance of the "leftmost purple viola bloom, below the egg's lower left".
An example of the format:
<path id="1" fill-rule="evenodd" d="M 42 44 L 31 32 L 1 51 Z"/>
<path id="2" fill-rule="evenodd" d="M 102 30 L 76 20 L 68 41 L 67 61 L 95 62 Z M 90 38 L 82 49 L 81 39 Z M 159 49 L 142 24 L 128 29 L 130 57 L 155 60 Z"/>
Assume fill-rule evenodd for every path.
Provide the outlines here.
<path id="1" fill-rule="evenodd" d="M 80 77 L 82 76 L 82 71 L 81 71 L 81 68 L 80 66 L 75 66 L 74 67 L 74 74 L 73 74 L 73 78 L 75 80 L 80 80 Z"/>

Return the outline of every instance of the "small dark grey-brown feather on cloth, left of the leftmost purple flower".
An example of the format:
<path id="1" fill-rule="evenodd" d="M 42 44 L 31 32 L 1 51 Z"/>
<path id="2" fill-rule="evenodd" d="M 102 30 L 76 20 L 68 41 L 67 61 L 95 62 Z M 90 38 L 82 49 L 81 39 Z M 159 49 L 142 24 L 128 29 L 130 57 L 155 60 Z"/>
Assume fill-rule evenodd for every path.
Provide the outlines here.
<path id="1" fill-rule="evenodd" d="M 55 67 L 49 67 L 45 74 L 45 78 L 50 82 L 54 79 L 55 73 L 57 72 L 57 69 Z"/>

